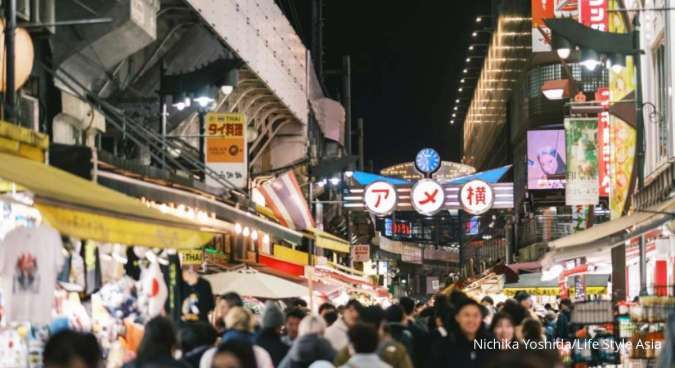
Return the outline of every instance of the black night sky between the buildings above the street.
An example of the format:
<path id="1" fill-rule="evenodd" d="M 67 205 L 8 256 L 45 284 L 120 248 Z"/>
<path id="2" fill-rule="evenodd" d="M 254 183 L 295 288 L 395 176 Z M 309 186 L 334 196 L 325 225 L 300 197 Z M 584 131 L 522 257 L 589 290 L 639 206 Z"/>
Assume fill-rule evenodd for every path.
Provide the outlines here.
<path id="1" fill-rule="evenodd" d="M 278 1 L 297 14 L 289 18 L 309 46 L 309 1 Z M 341 68 L 342 56 L 351 55 L 354 129 L 363 117 L 366 162 L 375 170 L 412 161 L 426 146 L 459 161 L 461 122 L 449 125 L 451 109 L 475 16 L 489 14 L 490 3 L 324 0 L 324 69 Z M 338 78 L 325 80 L 333 98 Z"/>

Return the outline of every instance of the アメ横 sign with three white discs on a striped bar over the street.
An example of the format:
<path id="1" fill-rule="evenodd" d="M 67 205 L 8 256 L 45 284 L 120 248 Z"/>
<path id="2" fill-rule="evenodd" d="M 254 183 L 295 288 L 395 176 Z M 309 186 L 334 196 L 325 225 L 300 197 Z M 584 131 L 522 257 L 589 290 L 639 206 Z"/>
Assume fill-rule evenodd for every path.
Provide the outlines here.
<path id="1" fill-rule="evenodd" d="M 486 183 L 471 180 L 466 184 L 440 184 L 422 179 L 410 185 L 392 185 L 376 181 L 366 187 L 347 189 L 345 207 L 387 216 L 394 211 L 417 211 L 431 216 L 443 210 L 464 210 L 480 215 L 493 208 L 513 208 L 513 183 Z"/>

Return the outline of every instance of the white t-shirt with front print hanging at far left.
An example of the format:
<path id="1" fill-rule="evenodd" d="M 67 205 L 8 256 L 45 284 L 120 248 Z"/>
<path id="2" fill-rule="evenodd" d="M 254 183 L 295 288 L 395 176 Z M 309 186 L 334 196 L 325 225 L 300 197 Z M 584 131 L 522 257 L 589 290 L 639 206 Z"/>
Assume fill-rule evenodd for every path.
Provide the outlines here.
<path id="1" fill-rule="evenodd" d="M 47 225 L 18 227 L 0 244 L 4 320 L 51 321 L 56 275 L 63 266 L 61 236 Z"/>

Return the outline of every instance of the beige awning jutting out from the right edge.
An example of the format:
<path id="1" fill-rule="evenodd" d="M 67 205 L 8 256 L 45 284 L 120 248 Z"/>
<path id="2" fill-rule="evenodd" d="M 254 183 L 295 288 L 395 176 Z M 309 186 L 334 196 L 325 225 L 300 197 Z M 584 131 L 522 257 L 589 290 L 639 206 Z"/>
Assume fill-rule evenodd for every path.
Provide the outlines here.
<path id="1" fill-rule="evenodd" d="M 542 267 L 547 269 L 556 263 L 578 257 L 586 257 L 587 261 L 609 258 L 607 253 L 611 248 L 672 221 L 673 215 L 670 213 L 674 210 L 675 198 L 671 198 L 648 210 L 638 210 L 632 215 L 551 241 L 548 243 L 549 252 L 542 259 Z"/>

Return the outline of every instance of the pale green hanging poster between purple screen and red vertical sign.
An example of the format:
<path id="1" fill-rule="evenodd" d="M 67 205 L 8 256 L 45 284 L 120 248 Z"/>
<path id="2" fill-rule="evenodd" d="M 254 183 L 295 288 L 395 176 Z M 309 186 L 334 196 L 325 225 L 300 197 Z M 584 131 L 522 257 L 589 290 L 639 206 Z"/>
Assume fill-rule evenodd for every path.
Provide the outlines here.
<path id="1" fill-rule="evenodd" d="M 598 188 L 598 119 L 565 119 L 567 143 L 567 206 L 596 205 Z"/>

